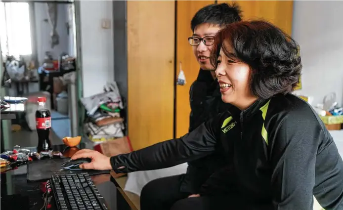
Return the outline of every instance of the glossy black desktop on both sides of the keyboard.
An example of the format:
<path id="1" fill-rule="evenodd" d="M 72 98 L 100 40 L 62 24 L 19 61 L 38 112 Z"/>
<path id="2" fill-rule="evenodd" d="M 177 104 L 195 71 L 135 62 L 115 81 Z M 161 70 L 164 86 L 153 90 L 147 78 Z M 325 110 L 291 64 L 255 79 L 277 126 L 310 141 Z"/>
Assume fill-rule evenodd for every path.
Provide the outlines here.
<path id="1" fill-rule="evenodd" d="M 63 145 L 55 145 L 55 151 L 56 146 L 60 149 L 64 148 Z M 110 210 L 126 210 L 127 208 L 117 208 L 117 201 L 123 199 L 117 198 L 120 193 L 117 193 L 114 178 L 111 177 L 111 174 L 91 176 Z M 26 165 L 1 174 L 1 208 L 5 210 L 40 210 L 43 207 L 43 192 L 40 190 L 40 184 L 41 182 L 27 182 Z M 19 196 L 22 198 L 18 199 Z M 6 202 L 6 200 L 10 202 Z M 49 210 L 56 210 L 54 202 L 52 199 L 50 202 L 52 207 Z"/>

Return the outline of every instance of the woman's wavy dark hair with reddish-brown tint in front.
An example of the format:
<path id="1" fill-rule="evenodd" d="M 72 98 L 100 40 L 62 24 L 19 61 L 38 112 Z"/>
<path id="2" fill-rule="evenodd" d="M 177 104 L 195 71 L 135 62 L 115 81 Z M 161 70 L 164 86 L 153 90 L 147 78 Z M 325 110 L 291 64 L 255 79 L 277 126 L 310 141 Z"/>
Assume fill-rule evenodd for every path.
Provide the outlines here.
<path id="1" fill-rule="evenodd" d="M 210 56 L 214 67 L 220 49 L 233 62 L 250 66 L 250 89 L 259 98 L 290 93 L 299 83 L 302 64 L 298 43 L 267 21 L 241 21 L 220 30 Z"/>

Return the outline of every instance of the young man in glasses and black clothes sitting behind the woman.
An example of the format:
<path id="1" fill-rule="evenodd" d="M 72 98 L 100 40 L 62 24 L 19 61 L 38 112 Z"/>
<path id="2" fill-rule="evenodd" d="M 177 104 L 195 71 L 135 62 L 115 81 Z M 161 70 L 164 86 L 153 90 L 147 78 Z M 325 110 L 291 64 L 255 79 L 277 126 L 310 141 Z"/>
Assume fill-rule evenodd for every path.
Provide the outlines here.
<path id="1" fill-rule="evenodd" d="M 191 21 L 193 36 L 188 38 L 188 41 L 200 64 L 200 71 L 189 92 L 191 106 L 189 132 L 231 106 L 221 100 L 215 69 L 210 63 L 210 53 L 214 35 L 225 25 L 241 21 L 240 15 L 241 11 L 236 5 L 211 4 L 201 8 Z M 178 200 L 197 197 L 203 183 L 222 165 L 223 158 L 213 154 L 189 162 L 185 174 L 149 182 L 141 192 L 141 210 L 169 210 Z M 192 198 L 192 200 L 197 199 Z"/>

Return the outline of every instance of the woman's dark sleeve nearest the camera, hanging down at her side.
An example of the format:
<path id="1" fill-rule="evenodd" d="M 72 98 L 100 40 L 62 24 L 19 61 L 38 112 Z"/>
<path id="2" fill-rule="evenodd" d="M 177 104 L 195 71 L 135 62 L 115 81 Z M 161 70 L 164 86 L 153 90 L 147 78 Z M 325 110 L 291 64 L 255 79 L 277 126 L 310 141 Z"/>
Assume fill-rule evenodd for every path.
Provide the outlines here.
<path id="1" fill-rule="evenodd" d="M 314 121 L 314 122 L 313 122 Z M 315 163 L 324 133 L 313 119 L 288 116 L 269 139 L 273 210 L 312 210 Z"/>

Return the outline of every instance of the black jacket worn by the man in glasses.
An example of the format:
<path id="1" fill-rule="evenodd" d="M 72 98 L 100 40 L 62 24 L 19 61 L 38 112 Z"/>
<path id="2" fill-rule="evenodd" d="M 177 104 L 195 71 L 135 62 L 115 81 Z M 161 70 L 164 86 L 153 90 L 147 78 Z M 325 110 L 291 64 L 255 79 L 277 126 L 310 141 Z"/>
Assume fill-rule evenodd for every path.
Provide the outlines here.
<path id="1" fill-rule="evenodd" d="M 230 104 L 221 100 L 219 84 L 217 80 L 213 79 L 210 71 L 200 69 L 196 81 L 191 85 L 189 96 L 191 106 L 189 132 L 231 107 Z M 187 172 L 183 176 L 180 191 L 197 194 L 201 185 L 224 164 L 221 155 L 216 153 L 188 162 Z"/>

